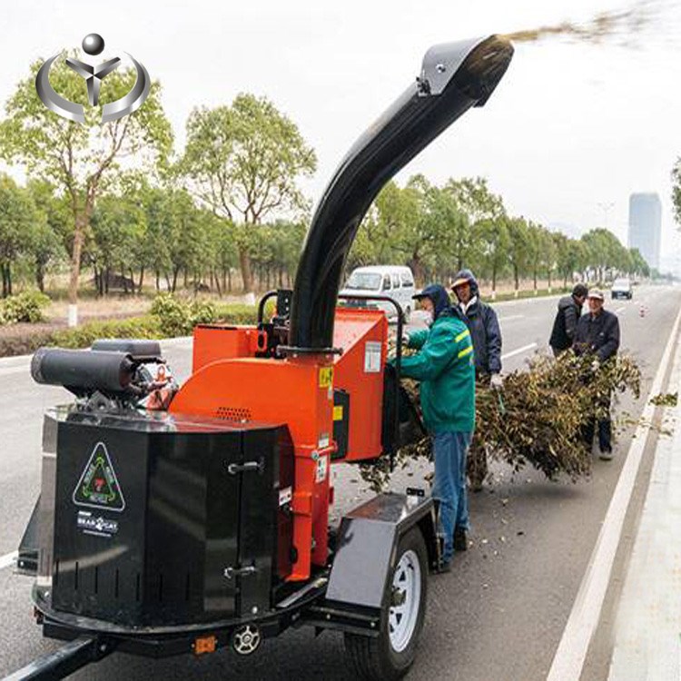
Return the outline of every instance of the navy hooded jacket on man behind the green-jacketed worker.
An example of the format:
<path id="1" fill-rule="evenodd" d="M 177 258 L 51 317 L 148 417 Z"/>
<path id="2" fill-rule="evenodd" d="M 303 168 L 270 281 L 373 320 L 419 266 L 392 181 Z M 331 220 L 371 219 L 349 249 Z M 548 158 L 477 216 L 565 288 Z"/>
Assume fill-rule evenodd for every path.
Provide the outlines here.
<path id="1" fill-rule="evenodd" d="M 452 307 L 452 313 L 469 328 L 475 349 L 475 370 L 478 374 L 492 374 L 501 371 L 501 330 L 497 312 L 480 300 L 478 281 L 470 270 L 461 270 L 457 279 L 467 279 L 471 299 L 477 297 L 467 311 L 462 311 L 459 302 Z"/>

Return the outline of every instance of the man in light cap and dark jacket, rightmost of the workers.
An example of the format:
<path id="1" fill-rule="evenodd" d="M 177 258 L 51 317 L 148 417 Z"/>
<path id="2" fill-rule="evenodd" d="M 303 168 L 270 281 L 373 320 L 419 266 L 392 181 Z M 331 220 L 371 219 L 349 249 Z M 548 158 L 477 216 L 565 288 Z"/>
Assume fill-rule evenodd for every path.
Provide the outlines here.
<path id="1" fill-rule="evenodd" d="M 617 354 L 619 349 L 619 320 L 613 312 L 603 309 L 605 296 L 601 291 L 591 291 L 587 295 L 588 314 L 577 322 L 574 350 L 577 355 L 588 355 L 593 358 L 591 370 L 596 373 L 601 366 Z M 598 419 L 598 446 L 600 458 L 612 459 L 612 423 L 610 421 L 610 396 L 604 397 L 598 405 L 607 414 Z M 596 429 L 596 419 L 590 419 L 582 432 L 584 441 L 591 449 Z"/>

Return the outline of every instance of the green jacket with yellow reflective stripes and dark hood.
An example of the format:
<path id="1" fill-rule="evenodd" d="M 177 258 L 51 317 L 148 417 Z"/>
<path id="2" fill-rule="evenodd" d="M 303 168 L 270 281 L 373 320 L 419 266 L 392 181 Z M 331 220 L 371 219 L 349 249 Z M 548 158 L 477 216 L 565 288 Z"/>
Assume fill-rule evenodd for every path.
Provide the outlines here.
<path id="1" fill-rule="evenodd" d="M 428 330 L 410 334 L 408 347 L 419 352 L 402 358 L 402 376 L 420 381 L 421 410 L 429 432 L 472 432 L 475 367 L 470 331 L 452 315 L 442 286 L 428 286 L 421 295 L 433 302 L 435 321 Z"/>

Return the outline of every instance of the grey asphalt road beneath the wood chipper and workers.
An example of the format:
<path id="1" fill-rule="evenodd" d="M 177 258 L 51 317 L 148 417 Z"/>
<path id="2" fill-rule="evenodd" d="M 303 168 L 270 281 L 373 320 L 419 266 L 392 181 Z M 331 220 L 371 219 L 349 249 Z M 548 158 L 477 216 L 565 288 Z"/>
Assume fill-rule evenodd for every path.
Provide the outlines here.
<path id="1" fill-rule="evenodd" d="M 639 314 L 642 305 L 644 317 Z M 643 397 L 621 405 L 632 415 L 642 409 L 680 305 L 681 289 L 641 288 L 634 301 L 607 301 L 620 317 L 623 349 L 638 358 L 644 371 Z M 545 347 L 555 307 L 555 299 L 498 305 L 505 372 L 521 369 L 532 352 Z M 190 343 L 182 342 L 166 351 L 181 377 L 190 370 L 190 350 Z M 33 384 L 26 360 L 0 362 L 0 381 L 1 561 L 15 550 L 35 502 L 42 412 L 68 396 L 63 390 Z M 494 484 L 470 498 L 473 546 L 456 557 L 451 574 L 429 580 L 427 622 L 410 681 L 534 681 L 547 676 L 630 436 L 630 429 L 622 432 L 616 459 L 597 460 L 592 477 L 576 485 L 548 483 L 534 471 L 512 479 L 508 469 L 493 469 Z M 393 480 L 395 489 L 417 484 L 421 473 L 400 474 Z M 369 495 L 350 466 L 337 467 L 334 475 L 336 514 Z M 5 622 L 0 627 L 0 675 L 58 646 L 44 640 L 35 627 L 30 588 L 30 579 L 0 568 L 0 612 Z M 353 678 L 342 637 L 330 632 L 314 637 L 305 629 L 266 641 L 248 659 L 229 652 L 157 662 L 114 655 L 74 678 L 122 676 L 129 681 Z"/>

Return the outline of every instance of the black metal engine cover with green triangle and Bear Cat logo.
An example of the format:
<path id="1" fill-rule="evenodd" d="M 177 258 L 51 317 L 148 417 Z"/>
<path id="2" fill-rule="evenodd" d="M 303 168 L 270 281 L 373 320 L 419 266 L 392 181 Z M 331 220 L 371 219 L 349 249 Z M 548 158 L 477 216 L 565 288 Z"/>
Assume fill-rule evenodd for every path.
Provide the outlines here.
<path id="1" fill-rule="evenodd" d="M 288 429 L 72 411 L 56 449 L 54 610 L 129 627 L 271 607 L 291 570 Z"/>

